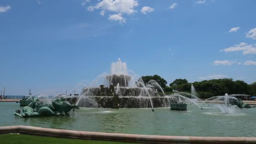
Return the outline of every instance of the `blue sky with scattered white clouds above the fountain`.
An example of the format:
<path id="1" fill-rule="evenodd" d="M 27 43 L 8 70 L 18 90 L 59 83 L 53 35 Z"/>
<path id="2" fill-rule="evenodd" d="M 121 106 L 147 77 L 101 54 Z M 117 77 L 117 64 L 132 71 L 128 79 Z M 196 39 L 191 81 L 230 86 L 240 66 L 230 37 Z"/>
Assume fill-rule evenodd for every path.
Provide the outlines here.
<path id="1" fill-rule="evenodd" d="M 121 58 L 168 84 L 256 81 L 255 0 L 1 0 L 0 88 L 73 91 Z"/>

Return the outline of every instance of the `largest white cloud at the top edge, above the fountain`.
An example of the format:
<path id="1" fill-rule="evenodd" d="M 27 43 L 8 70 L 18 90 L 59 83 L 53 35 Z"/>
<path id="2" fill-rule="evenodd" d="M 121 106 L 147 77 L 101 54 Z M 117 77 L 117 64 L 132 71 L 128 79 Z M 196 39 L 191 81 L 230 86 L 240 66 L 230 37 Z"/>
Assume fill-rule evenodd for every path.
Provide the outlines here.
<path id="1" fill-rule="evenodd" d="M 102 11 L 132 14 L 136 12 L 133 8 L 138 5 L 139 3 L 136 0 L 102 0 L 95 6 L 89 6 L 87 9 L 88 11 L 101 9 Z"/>

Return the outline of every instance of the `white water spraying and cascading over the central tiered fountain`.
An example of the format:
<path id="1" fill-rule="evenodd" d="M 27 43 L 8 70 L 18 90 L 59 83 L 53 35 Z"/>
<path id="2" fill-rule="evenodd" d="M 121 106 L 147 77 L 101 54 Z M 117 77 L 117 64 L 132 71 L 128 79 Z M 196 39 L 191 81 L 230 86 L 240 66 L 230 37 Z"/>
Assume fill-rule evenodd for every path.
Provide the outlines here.
<path id="1" fill-rule="evenodd" d="M 163 89 L 155 80 L 150 80 L 145 85 L 141 77 L 134 74 L 133 71 L 128 70 L 126 63 L 122 62 L 119 58 L 117 62 L 111 63 L 109 74 L 104 73 L 99 75 L 92 83 L 82 88 L 80 96 L 77 97 L 76 104 L 79 104 L 79 101 L 85 97 L 95 99 L 95 96 L 101 96 L 99 99 L 108 101 L 107 96 L 110 96 L 110 93 L 116 93 L 120 97 L 125 96 L 125 98 L 129 98 L 128 102 L 133 100 L 131 96 L 147 96 L 153 109 L 151 98 L 155 95 L 154 91 L 156 89 L 162 91 L 164 94 Z"/>

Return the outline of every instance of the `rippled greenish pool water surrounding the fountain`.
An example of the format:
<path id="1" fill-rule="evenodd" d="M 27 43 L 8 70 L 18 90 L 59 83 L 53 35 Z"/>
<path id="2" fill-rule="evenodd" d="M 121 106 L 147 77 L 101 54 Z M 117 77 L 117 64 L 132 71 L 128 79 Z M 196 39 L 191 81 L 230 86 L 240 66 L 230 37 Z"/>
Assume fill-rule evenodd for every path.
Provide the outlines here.
<path id="1" fill-rule="evenodd" d="M 170 108 L 99 109 L 81 108 L 64 117 L 21 118 L 13 112 L 19 103 L 0 102 L 0 126 L 29 125 L 78 131 L 133 133 L 169 136 L 256 136 L 256 108 L 223 113 L 221 104 L 204 109 L 188 105 L 187 111 Z"/>

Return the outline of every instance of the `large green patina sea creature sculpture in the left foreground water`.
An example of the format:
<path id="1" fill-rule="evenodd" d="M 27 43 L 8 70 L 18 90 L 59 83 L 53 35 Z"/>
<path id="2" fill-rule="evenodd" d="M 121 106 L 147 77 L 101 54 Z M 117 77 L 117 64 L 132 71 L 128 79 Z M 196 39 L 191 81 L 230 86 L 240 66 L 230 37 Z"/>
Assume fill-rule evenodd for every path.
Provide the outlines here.
<path id="1" fill-rule="evenodd" d="M 45 104 L 37 98 L 33 98 L 33 101 L 23 108 L 23 114 L 20 114 L 19 110 L 16 110 L 14 114 L 20 117 L 64 116 L 69 115 L 71 109 L 79 109 L 79 107 L 70 104 L 69 101 L 64 101 L 63 98 L 54 99 L 52 104 Z"/>

